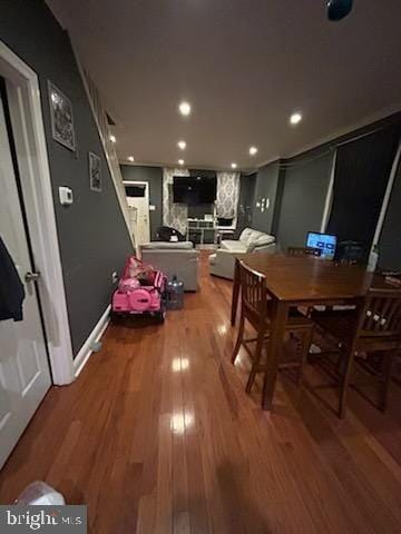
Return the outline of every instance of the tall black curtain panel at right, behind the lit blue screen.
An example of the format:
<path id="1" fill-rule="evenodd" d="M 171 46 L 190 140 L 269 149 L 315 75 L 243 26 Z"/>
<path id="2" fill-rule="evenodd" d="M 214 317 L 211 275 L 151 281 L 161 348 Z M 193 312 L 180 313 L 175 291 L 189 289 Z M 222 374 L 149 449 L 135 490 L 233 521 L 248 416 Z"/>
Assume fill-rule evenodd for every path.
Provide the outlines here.
<path id="1" fill-rule="evenodd" d="M 360 241 L 364 259 L 374 237 L 400 137 L 391 126 L 338 148 L 333 205 L 327 233 Z"/>

